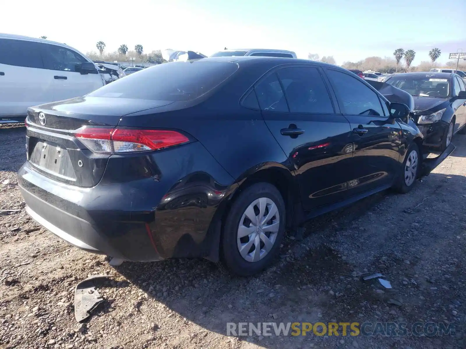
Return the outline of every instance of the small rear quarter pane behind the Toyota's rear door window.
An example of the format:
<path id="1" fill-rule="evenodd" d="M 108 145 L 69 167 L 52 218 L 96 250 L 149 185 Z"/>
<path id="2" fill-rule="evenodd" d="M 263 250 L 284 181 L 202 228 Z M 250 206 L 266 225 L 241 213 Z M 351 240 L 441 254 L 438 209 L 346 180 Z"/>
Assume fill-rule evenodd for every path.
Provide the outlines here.
<path id="1" fill-rule="evenodd" d="M 261 110 L 271 112 L 288 112 L 288 105 L 285 95 L 281 89 L 277 74 L 273 73 L 254 88 Z"/>

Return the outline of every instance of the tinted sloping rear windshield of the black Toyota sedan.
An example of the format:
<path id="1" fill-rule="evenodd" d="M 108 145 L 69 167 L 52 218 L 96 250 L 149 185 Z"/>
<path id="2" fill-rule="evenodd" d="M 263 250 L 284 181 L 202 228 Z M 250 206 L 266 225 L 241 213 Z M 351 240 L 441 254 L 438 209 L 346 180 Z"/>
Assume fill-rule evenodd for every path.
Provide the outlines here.
<path id="1" fill-rule="evenodd" d="M 192 101 L 225 81 L 238 69 L 230 62 L 170 62 L 143 69 L 88 94 L 90 97 Z"/>

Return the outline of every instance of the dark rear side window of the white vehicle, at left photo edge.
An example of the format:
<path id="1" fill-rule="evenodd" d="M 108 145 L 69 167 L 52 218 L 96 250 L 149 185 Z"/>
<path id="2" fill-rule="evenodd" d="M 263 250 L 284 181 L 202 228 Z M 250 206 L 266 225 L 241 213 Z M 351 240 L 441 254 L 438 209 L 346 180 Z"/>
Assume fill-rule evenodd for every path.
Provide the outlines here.
<path id="1" fill-rule="evenodd" d="M 17 67 L 43 68 L 40 43 L 0 39 L 0 63 Z"/>

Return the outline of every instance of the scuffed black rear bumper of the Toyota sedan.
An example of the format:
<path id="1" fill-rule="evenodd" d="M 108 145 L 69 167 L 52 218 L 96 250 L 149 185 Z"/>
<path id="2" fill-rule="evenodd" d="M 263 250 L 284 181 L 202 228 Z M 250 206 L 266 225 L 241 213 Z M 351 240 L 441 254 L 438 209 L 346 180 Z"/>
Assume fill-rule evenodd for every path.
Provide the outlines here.
<path id="1" fill-rule="evenodd" d="M 92 188 L 56 181 L 26 161 L 18 184 L 27 213 L 92 253 L 134 262 L 209 257 L 219 235 L 210 228 L 233 190 L 231 176 L 199 142 L 132 159 L 128 166 L 128 159 L 111 156 Z M 189 170 L 173 159 L 190 159 Z M 147 163 L 158 172 L 147 175 Z"/>

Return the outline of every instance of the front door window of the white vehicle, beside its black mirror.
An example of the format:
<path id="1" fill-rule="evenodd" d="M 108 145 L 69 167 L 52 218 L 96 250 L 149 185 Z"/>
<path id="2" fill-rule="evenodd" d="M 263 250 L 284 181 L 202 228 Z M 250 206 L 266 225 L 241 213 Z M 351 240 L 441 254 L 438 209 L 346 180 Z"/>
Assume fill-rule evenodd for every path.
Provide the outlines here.
<path id="1" fill-rule="evenodd" d="M 44 67 L 51 70 L 76 72 L 77 65 L 88 61 L 75 51 L 57 45 L 41 44 L 41 53 Z"/>

